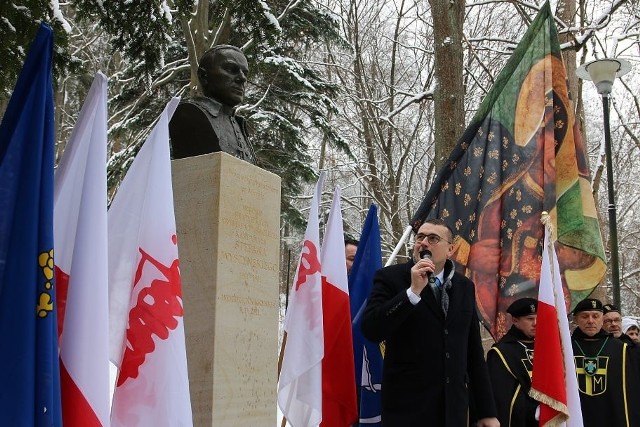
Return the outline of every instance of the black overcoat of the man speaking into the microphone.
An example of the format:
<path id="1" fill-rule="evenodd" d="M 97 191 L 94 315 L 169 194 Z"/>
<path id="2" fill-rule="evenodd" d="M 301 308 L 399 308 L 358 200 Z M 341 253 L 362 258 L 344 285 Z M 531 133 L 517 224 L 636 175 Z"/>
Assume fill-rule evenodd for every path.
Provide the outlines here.
<path id="1" fill-rule="evenodd" d="M 473 282 L 447 261 L 444 278 L 452 286 L 445 318 L 429 286 L 418 304 L 409 301 L 413 264 L 376 273 L 361 323 L 367 339 L 385 341 L 383 426 L 463 427 L 469 418 L 495 417 Z M 469 416 L 470 397 L 477 417 Z"/>

